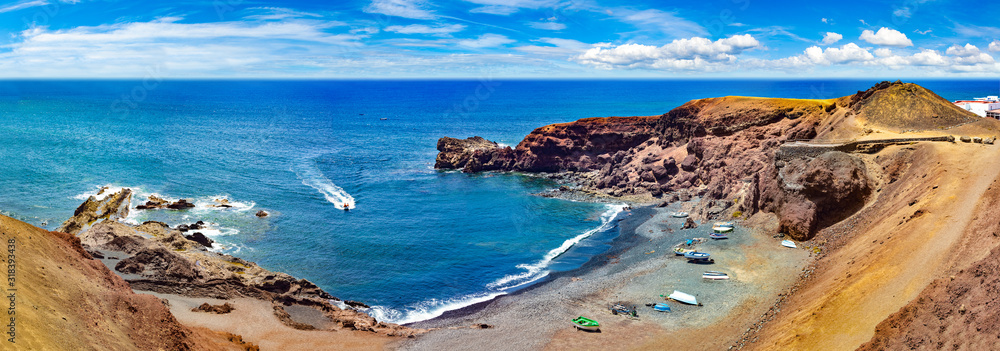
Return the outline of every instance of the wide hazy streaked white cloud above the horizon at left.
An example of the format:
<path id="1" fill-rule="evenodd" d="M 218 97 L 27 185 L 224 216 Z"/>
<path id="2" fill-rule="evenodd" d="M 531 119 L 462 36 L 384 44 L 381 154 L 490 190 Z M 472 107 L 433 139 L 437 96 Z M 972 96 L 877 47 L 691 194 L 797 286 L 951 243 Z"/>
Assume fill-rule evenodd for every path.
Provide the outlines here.
<path id="1" fill-rule="evenodd" d="M 0 72 L 24 77 L 254 76 L 312 65 L 361 47 L 364 35 L 331 34 L 322 21 L 177 23 L 179 18 L 18 34 Z M 294 53 L 294 54 L 293 54 Z"/>

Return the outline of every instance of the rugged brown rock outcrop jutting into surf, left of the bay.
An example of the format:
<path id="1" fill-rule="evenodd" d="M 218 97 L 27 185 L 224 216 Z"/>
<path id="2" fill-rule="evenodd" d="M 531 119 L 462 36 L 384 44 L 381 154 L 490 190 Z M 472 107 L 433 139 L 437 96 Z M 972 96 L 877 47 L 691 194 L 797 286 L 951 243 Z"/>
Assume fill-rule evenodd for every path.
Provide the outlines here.
<path id="1" fill-rule="evenodd" d="M 120 194 L 108 196 L 105 201 L 119 203 L 122 197 L 127 198 L 130 194 L 126 189 Z M 97 214 L 88 209 L 105 207 L 106 204 L 100 201 L 96 206 L 81 206 L 84 210 L 78 211 L 69 222 L 94 218 Z M 116 256 L 121 256 L 113 263 L 113 268 L 127 277 L 133 289 L 218 299 L 250 297 L 270 301 L 276 306 L 315 308 L 339 328 L 390 336 L 411 336 L 422 332 L 378 322 L 355 309 L 341 309 L 331 303 L 339 299 L 308 280 L 272 272 L 231 255 L 208 251 L 211 239 L 200 232 L 193 232 L 203 226 L 200 221 L 170 228 L 161 222 L 131 226 L 103 220 L 83 231 L 79 238 L 88 252 L 116 252 Z M 181 229 L 192 234 L 185 236 Z"/>

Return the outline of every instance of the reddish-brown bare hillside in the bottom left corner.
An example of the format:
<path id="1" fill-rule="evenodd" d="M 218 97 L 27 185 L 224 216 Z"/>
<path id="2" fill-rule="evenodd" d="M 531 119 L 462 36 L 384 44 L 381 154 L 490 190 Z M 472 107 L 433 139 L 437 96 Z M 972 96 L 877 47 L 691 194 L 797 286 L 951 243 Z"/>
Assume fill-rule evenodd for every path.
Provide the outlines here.
<path id="1" fill-rule="evenodd" d="M 4 289 L 15 294 L 14 350 L 242 350 L 222 334 L 182 326 L 160 299 L 133 293 L 72 235 L 0 216 L 0 239 L 15 264 L 16 291 Z"/>

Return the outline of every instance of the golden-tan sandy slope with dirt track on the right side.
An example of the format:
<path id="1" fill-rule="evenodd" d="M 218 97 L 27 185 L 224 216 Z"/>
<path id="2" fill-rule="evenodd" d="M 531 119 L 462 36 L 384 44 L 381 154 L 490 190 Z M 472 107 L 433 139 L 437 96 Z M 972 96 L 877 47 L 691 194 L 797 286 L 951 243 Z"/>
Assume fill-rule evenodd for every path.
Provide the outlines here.
<path id="1" fill-rule="evenodd" d="M 819 262 L 815 277 L 753 346 L 853 350 L 933 279 L 986 255 L 988 247 L 954 253 L 975 240 L 967 237 L 968 226 L 1000 174 L 1000 147 L 961 142 L 907 147 L 913 149 L 913 166 L 868 208 L 840 224 L 851 227 L 850 238 Z"/>

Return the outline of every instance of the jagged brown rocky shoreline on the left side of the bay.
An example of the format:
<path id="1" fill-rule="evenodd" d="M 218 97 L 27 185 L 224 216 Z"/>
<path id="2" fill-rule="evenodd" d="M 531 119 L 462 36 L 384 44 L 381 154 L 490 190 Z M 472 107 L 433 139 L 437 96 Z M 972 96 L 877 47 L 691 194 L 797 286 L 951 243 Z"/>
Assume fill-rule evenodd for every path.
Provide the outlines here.
<path id="1" fill-rule="evenodd" d="M 191 298 L 252 298 L 272 304 L 274 313 L 286 325 L 297 329 L 317 329 L 296 321 L 294 306 L 321 313 L 328 330 L 356 330 L 378 335 L 413 337 L 422 330 L 379 322 L 359 311 L 363 303 L 342 301 L 312 282 L 285 273 L 264 269 L 231 255 L 210 251 L 213 242 L 198 230 L 203 222 L 170 227 L 148 221 L 129 225 L 127 217 L 133 193 L 122 189 L 112 194 L 92 196 L 75 211 L 60 231 L 75 235 L 86 252 L 101 259 L 136 291 L 151 291 Z M 150 196 L 136 209 L 184 210 L 191 203 L 170 203 Z M 178 206 L 174 206 L 179 204 Z M 192 205 L 193 206 L 193 205 Z"/>

